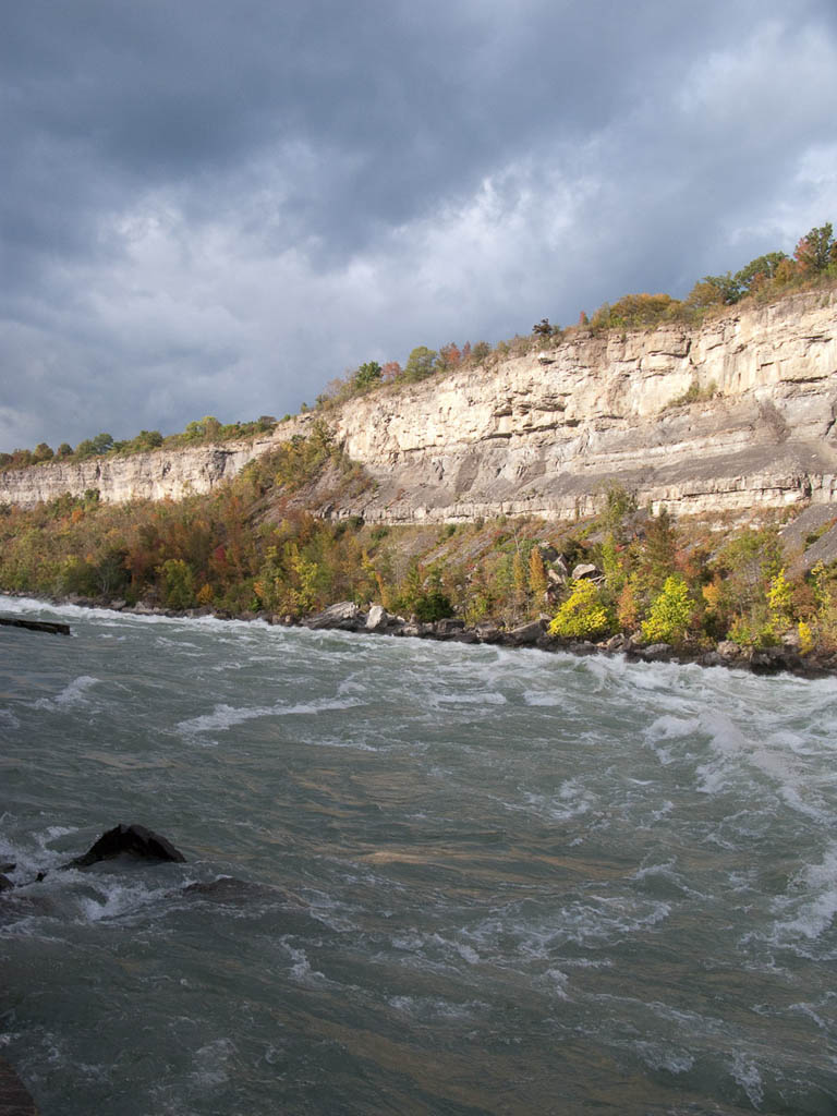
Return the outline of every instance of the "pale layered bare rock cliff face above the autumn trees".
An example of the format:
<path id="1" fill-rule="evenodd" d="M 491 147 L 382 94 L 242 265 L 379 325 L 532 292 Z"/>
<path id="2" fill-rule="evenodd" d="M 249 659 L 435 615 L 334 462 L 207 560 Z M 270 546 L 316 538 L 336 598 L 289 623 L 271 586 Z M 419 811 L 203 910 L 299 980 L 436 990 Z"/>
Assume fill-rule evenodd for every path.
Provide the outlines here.
<path id="1" fill-rule="evenodd" d="M 686 393 L 693 402 L 675 404 Z M 571 518 L 594 511 L 608 481 L 680 513 L 829 503 L 836 416 L 835 291 L 745 306 L 699 329 L 579 333 L 488 371 L 382 389 L 328 412 L 377 484 L 331 514 Z M 310 421 L 252 445 L 0 473 L 0 501 L 29 506 L 87 488 L 103 500 L 206 491 Z"/>

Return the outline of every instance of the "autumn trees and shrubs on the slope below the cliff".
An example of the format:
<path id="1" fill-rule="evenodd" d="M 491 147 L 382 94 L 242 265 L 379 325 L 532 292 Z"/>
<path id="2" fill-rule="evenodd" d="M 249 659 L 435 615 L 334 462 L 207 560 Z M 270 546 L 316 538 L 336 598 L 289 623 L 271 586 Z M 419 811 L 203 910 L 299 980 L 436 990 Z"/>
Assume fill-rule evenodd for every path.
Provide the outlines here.
<path id="1" fill-rule="evenodd" d="M 0 588 L 92 603 L 300 618 L 339 600 L 419 620 L 459 616 L 552 635 L 710 648 L 837 651 L 837 564 L 801 559 L 834 525 L 719 532 L 636 508 L 617 485 L 573 525 L 538 519 L 369 526 L 305 510 L 369 483 L 325 424 L 180 502 L 105 506 L 95 491 L 0 514 Z M 829 509 L 821 509 L 829 512 Z M 715 528 L 718 525 L 712 525 Z"/>

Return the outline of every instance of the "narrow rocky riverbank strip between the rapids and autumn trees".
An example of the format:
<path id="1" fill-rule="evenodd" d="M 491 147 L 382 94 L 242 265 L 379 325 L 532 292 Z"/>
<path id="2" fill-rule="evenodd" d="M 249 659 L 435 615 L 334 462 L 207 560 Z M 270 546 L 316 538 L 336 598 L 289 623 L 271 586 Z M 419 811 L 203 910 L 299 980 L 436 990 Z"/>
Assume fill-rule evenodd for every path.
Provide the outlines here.
<path id="1" fill-rule="evenodd" d="M 8 597 L 30 598 L 26 593 L 4 594 Z M 33 598 L 32 598 L 33 599 Z M 530 647 L 546 652 L 566 652 L 571 655 L 624 655 L 628 662 L 679 663 L 699 666 L 724 666 L 749 671 L 759 675 L 788 673 L 802 679 L 822 679 L 837 675 L 837 653 L 810 651 L 801 654 L 795 646 L 777 644 L 748 647 L 723 639 L 714 645 L 705 643 L 643 643 L 631 635 L 614 635 L 598 643 L 587 639 L 565 639 L 547 631 L 543 618 L 503 627 L 492 622 L 468 625 L 463 619 L 422 623 L 388 613 L 381 605 L 363 609 L 353 602 L 338 602 L 327 608 L 305 616 L 279 615 L 268 612 L 238 612 L 203 608 L 161 608 L 145 604 L 128 605 L 124 600 L 68 595 L 38 598 L 52 605 L 75 605 L 81 608 L 108 608 L 134 616 L 164 616 L 173 619 L 199 619 L 212 616 L 221 620 L 261 620 L 279 627 L 304 627 L 310 631 L 352 632 L 356 635 L 388 635 L 402 638 L 433 639 L 440 643 L 489 644 L 501 647 Z"/>

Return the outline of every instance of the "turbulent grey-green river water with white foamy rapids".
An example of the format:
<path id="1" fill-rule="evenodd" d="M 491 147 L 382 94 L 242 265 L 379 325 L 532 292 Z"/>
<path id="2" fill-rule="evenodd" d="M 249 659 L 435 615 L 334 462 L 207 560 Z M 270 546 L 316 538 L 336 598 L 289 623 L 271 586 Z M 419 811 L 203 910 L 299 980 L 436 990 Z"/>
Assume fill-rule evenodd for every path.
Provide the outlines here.
<path id="1" fill-rule="evenodd" d="M 837 1112 L 835 682 L 0 609 L 42 1116 Z"/>

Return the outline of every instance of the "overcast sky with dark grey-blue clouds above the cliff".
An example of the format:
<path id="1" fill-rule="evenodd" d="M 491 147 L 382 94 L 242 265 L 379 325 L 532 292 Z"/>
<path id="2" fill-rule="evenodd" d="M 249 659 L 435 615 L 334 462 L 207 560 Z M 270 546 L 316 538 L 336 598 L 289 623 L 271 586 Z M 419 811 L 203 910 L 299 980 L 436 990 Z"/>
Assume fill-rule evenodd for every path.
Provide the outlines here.
<path id="1" fill-rule="evenodd" d="M 23 0 L 0 450 L 296 412 L 837 224 L 835 0 Z"/>

